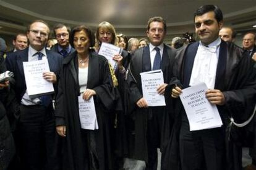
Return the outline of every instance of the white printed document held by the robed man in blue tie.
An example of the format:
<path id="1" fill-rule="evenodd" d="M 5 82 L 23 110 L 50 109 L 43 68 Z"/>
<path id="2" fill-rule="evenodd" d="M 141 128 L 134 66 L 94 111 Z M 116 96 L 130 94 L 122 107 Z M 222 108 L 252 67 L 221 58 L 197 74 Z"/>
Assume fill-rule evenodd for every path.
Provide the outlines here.
<path id="1" fill-rule="evenodd" d="M 156 89 L 164 83 L 162 70 L 153 70 L 140 73 L 142 79 L 143 98 L 148 102 L 148 106 L 165 106 L 163 95 L 159 95 Z"/>

